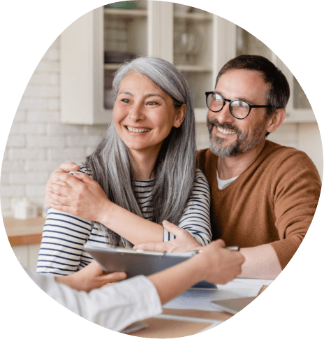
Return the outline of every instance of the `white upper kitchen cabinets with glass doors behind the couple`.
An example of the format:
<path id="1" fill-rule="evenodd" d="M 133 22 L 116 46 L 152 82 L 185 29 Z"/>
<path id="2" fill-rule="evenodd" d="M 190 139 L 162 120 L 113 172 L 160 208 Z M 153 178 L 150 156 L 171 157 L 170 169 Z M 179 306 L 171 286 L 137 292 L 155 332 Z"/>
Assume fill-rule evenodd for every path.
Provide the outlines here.
<path id="1" fill-rule="evenodd" d="M 216 74 L 239 54 L 268 57 L 292 89 L 286 122 L 316 122 L 307 96 L 287 66 L 255 36 L 205 10 L 164 1 L 134 0 L 135 8 L 91 10 L 61 34 L 61 122 L 107 124 L 113 98 L 112 74 L 120 62 L 104 52 L 162 57 L 184 73 L 194 96 L 197 122 L 205 122 L 205 92 Z M 130 54 L 129 54 L 130 53 Z M 116 57 L 116 55 L 115 55 Z"/>

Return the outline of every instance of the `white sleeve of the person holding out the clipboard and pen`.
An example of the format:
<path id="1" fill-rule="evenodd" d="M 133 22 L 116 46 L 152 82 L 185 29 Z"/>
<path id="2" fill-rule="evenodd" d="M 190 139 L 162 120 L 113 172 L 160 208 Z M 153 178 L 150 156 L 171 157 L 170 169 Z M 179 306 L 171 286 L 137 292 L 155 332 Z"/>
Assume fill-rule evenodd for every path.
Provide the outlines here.
<path id="1" fill-rule="evenodd" d="M 46 294 L 80 317 L 113 331 L 162 312 L 154 284 L 143 275 L 87 293 L 59 284 L 53 275 L 25 271 Z"/>

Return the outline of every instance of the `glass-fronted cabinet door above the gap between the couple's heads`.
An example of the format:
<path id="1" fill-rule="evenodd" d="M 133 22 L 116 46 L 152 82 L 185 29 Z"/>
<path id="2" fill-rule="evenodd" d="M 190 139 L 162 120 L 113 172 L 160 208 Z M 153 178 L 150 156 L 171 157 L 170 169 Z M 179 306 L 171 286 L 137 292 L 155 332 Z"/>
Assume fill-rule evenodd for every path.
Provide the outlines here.
<path id="1" fill-rule="evenodd" d="M 205 92 L 214 88 L 216 15 L 180 3 L 172 5 L 173 64 L 184 74 L 191 89 L 196 122 L 205 123 Z"/>

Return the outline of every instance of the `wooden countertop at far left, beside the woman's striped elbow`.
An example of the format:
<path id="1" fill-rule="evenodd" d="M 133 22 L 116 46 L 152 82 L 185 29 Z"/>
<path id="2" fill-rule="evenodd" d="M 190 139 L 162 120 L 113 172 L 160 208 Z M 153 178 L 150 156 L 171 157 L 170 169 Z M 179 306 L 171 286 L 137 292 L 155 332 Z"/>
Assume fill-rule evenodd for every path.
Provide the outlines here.
<path id="1" fill-rule="evenodd" d="M 3 225 L 11 246 L 40 244 L 45 218 L 19 220 L 3 218 Z"/>

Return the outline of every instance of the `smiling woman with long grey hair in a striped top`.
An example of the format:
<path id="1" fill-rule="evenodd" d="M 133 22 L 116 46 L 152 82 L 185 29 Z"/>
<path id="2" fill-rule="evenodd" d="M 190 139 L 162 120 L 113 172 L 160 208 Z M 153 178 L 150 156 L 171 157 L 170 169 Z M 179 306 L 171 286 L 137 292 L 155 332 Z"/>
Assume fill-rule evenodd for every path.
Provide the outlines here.
<path id="1" fill-rule="evenodd" d="M 103 140 L 81 173 L 66 174 L 68 187 L 52 185 L 55 210 L 43 229 L 38 272 L 78 271 L 92 261 L 86 242 L 170 240 L 163 220 L 200 245 L 211 240 L 209 187 L 196 170 L 193 103 L 182 74 L 163 59 L 140 57 L 119 68 L 113 89 L 113 122 Z"/>

